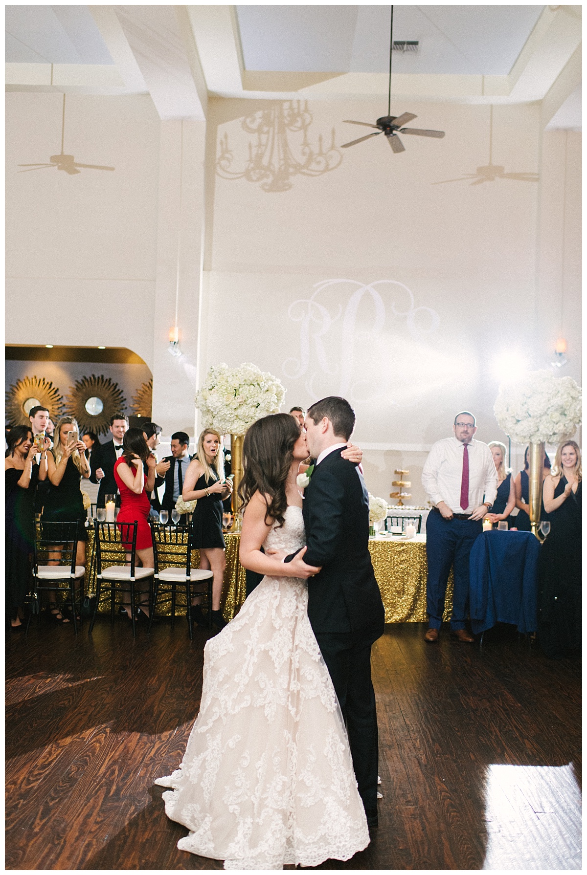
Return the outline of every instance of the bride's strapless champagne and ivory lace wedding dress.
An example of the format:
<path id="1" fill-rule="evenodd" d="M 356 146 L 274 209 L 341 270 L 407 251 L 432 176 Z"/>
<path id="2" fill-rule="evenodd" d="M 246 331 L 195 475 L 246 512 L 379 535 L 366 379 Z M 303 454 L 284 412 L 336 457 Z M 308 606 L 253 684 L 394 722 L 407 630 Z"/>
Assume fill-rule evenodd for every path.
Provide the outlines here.
<path id="1" fill-rule="evenodd" d="M 265 548 L 305 543 L 287 507 Z M 369 844 L 349 742 L 308 620 L 306 582 L 264 577 L 204 648 L 202 704 L 180 768 L 156 783 L 177 846 L 225 869 L 315 866 Z"/>

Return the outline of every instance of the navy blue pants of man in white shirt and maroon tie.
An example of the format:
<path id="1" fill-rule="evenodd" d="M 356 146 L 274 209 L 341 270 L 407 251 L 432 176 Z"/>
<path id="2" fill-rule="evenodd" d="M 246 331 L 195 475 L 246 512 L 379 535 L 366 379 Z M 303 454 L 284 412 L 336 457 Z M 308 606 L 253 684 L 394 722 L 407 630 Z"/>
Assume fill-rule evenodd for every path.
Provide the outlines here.
<path id="1" fill-rule="evenodd" d="M 440 629 L 444 613 L 444 596 L 452 565 L 455 588 L 452 597 L 451 629 L 463 629 L 469 612 L 469 555 L 473 542 L 483 531 L 481 520 L 445 520 L 432 510 L 426 521 L 426 588 L 428 625 Z"/>

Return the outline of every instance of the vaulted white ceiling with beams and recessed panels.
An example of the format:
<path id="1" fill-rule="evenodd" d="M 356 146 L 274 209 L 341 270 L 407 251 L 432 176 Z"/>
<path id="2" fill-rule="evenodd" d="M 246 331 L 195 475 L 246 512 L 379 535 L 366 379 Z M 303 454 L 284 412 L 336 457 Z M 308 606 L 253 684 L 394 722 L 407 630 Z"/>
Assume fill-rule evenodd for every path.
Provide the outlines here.
<path id="1" fill-rule="evenodd" d="M 547 123 L 581 82 L 581 11 L 395 5 L 394 40 L 419 46 L 393 52 L 393 96 L 516 103 L 550 95 Z M 194 119 L 205 117 L 210 94 L 380 98 L 389 20 L 384 5 L 6 6 L 6 88 L 149 93 L 161 118 Z M 574 127 L 577 105 L 575 96 L 567 107 Z"/>

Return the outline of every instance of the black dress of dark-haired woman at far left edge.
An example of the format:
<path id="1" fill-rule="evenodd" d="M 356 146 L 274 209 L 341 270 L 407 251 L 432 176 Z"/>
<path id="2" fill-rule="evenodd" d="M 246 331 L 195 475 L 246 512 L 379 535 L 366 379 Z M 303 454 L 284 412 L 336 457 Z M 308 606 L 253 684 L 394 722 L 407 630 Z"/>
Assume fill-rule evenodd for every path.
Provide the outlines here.
<path id="1" fill-rule="evenodd" d="M 27 489 L 18 486 L 22 475 L 23 472 L 15 468 L 4 472 L 6 613 L 11 620 L 17 619 L 18 608 L 25 604 L 26 591 L 31 584 L 34 503 L 39 465 L 32 465 L 31 482 Z"/>

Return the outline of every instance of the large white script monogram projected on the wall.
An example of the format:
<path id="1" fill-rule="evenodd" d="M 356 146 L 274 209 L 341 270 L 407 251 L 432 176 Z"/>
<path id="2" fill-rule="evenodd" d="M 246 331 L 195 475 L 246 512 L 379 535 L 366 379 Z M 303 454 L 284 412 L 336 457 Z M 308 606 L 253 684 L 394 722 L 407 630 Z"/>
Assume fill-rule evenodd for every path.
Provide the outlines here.
<path id="1" fill-rule="evenodd" d="M 306 376 L 304 386 L 315 400 L 325 394 L 316 385 L 321 375 L 327 378 L 322 383 L 330 387 L 331 393 L 354 402 L 380 394 L 386 380 L 373 370 L 379 372 L 388 364 L 385 351 L 393 331 L 393 317 L 406 319 L 407 335 L 419 349 L 440 325 L 438 313 L 430 307 L 416 306 L 413 292 L 397 280 L 359 283 L 329 279 L 315 283 L 314 288 L 311 297 L 293 301 L 287 310 L 288 318 L 300 324 L 300 355 L 286 359 L 282 370 L 289 380 Z M 349 291 L 346 304 L 338 303 Z M 393 335 L 397 337 L 396 332 Z M 370 379 L 364 379 L 365 373 Z"/>

